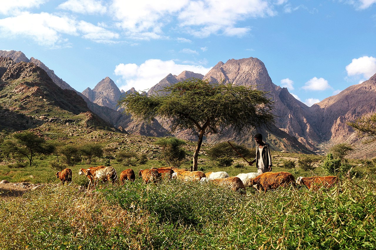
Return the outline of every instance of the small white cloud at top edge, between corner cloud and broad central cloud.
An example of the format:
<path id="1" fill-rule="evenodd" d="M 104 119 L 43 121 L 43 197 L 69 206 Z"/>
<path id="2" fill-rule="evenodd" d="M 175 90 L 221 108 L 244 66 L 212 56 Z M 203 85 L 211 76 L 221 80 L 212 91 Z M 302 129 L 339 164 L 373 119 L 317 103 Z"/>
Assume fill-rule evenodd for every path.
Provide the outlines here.
<path id="1" fill-rule="evenodd" d="M 107 11 L 102 1 L 97 0 L 68 0 L 60 4 L 58 8 L 81 14 L 105 14 Z"/>

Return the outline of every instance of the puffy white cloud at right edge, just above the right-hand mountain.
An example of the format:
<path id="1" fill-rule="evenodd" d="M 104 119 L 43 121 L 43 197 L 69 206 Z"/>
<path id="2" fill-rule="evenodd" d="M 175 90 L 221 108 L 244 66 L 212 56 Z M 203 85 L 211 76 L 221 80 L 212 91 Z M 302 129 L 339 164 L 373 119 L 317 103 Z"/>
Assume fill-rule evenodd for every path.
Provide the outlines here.
<path id="1" fill-rule="evenodd" d="M 360 75 L 369 79 L 376 73 L 376 58 L 363 56 L 358 59 L 352 59 L 352 62 L 346 66 L 348 76 Z"/>

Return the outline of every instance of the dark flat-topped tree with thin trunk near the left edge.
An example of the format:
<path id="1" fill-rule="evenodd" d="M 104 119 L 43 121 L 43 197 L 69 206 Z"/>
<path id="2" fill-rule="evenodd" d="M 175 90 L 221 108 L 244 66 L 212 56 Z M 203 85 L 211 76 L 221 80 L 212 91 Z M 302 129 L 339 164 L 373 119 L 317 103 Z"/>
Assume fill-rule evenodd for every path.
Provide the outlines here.
<path id="1" fill-rule="evenodd" d="M 2 143 L 2 151 L 5 154 L 15 154 L 27 157 L 32 165 L 36 154 L 51 154 L 54 150 L 52 144 L 44 138 L 30 131 L 23 131 L 12 135 L 12 139 L 6 139 Z"/>

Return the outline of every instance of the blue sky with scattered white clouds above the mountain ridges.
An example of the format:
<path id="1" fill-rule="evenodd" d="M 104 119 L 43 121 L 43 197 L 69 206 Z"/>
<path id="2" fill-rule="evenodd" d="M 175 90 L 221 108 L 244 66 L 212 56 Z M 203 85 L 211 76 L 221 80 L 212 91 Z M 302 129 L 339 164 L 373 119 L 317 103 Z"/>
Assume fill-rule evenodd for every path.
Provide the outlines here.
<path id="1" fill-rule="evenodd" d="M 376 0 L 0 0 L 0 50 L 82 92 L 105 77 L 146 90 L 257 57 L 311 106 L 376 73 Z"/>

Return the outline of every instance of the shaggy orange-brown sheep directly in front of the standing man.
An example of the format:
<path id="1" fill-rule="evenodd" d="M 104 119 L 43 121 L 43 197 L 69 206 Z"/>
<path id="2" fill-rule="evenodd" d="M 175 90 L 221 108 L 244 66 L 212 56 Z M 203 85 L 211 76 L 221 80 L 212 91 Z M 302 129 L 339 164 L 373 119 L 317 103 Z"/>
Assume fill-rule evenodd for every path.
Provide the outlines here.
<path id="1" fill-rule="evenodd" d="M 250 178 L 249 185 L 256 185 L 256 189 L 266 191 L 277 189 L 278 187 L 287 187 L 290 183 L 295 187 L 295 178 L 289 172 L 266 172 L 256 178 Z"/>

